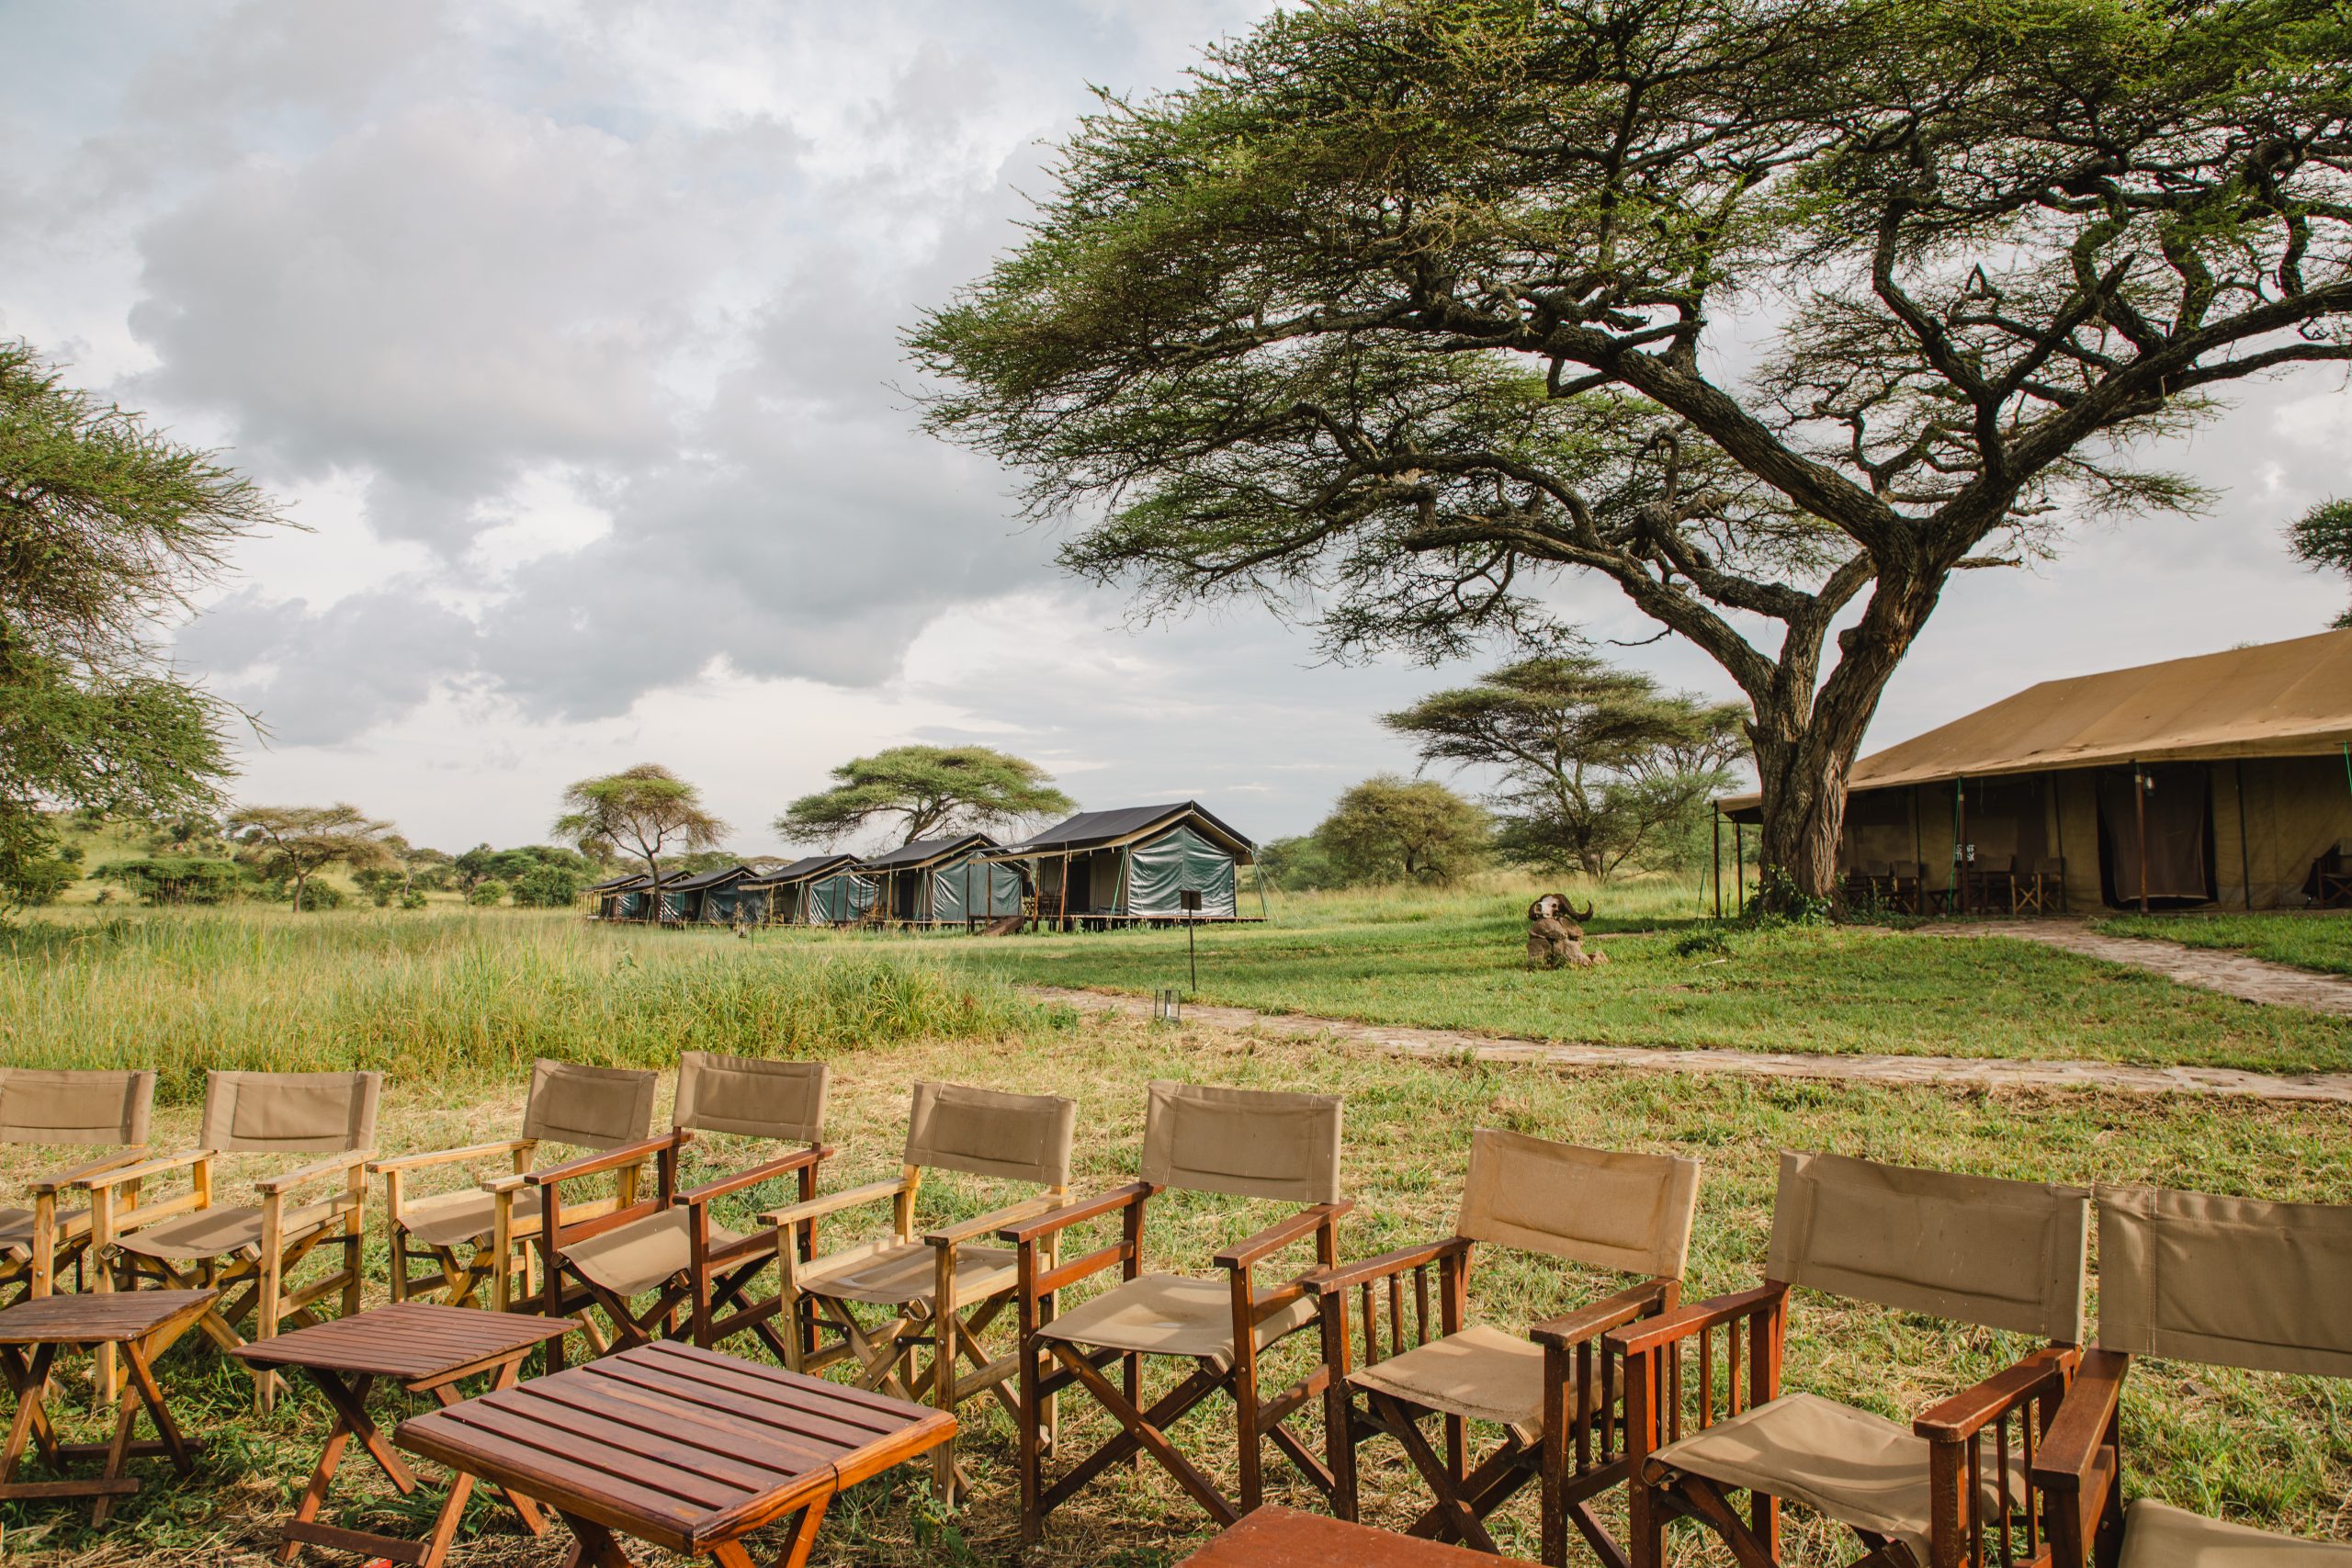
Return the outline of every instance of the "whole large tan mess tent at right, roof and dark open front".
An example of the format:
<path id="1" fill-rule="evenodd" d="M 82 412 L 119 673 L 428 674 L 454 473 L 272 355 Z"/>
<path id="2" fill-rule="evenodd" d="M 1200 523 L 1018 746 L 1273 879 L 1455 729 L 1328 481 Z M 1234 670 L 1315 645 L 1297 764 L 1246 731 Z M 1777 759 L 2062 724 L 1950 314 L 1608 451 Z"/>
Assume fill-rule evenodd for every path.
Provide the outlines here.
<path id="1" fill-rule="evenodd" d="M 2042 682 L 1872 752 L 1842 856 L 1915 867 L 1936 907 L 1980 867 L 2067 907 L 2326 903 L 2352 860 L 2352 630 Z"/>

